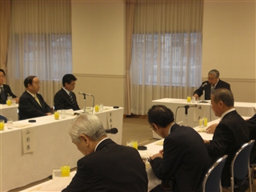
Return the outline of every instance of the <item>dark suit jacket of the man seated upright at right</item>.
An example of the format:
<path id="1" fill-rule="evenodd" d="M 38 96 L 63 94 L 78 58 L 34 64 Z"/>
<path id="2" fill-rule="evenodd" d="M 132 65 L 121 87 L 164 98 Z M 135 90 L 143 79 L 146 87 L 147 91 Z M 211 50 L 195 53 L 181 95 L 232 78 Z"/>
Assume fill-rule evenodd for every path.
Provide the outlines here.
<path id="1" fill-rule="evenodd" d="M 210 157 L 215 161 L 227 154 L 222 170 L 222 186 L 230 186 L 230 166 L 234 154 L 243 144 L 249 142 L 249 130 L 246 121 L 236 110 L 226 114 L 214 131 L 213 140 L 206 144 Z"/>

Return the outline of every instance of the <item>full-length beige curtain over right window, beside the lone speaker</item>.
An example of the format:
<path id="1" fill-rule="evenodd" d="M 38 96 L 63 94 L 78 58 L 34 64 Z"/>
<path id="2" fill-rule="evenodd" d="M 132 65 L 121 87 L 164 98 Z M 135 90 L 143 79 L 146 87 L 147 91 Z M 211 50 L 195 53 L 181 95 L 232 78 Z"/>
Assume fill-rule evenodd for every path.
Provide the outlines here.
<path id="1" fill-rule="evenodd" d="M 201 83 L 203 0 L 138 0 L 135 6 L 131 113 L 152 100 L 186 98 Z"/>

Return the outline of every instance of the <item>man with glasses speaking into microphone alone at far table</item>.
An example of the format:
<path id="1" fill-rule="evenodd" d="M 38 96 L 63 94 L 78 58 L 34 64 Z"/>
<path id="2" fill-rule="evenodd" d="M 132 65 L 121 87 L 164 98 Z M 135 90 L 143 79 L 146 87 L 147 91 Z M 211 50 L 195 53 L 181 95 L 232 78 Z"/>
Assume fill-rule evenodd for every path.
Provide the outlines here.
<path id="1" fill-rule="evenodd" d="M 230 84 L 219 79 L 218 70 L 210 70 L 208 73 L 208 81 L 202 82 L 202 85 L 198 88 L 198 90 L 194 91 L 193 96 L 198 99 L 203 94 L 203 90 L 205 90 L 204 99 L 210 100 L 210 93 L 219 88 L 226 88 L 230 90 Z"/>

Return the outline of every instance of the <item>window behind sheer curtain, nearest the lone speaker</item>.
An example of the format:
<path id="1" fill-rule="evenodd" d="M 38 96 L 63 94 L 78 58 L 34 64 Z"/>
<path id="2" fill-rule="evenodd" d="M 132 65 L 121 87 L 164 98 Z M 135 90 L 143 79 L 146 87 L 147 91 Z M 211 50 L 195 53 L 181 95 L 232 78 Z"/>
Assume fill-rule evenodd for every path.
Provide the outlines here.
<path id="1" fill-rule="evenodd" d="M 134 34 L 133 41 L 132 65 L 138 65 L 138 72 L 133 74 L 139 78 L 136 82 L 200 86 L 197 82 L 202 63 L 202 34 Z"/>

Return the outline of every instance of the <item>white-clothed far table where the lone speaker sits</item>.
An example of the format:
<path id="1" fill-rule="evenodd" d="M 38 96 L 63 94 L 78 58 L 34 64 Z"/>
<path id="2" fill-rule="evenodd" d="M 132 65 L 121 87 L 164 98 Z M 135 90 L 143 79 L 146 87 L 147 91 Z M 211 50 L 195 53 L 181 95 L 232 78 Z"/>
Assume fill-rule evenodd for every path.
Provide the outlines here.
<path id="1" fill-rule="evenodd" d="M 174 113 L 175 121 L 183 126 L 198 126 L 200 118 L 207 118 L 208 122 L 219 118 L 211 109 L 210 100 L 193 103 L 182 98 L 161 98 L 153 100 L 152 105 L 164 105 L 170 108 Z M 252 117 L 256 113 L 256 103 L 254 102 L 234 102 L 234 108 L 241 116 Z M 153 138 L 159 138 L 159 136 L 153 133 Z"/>

